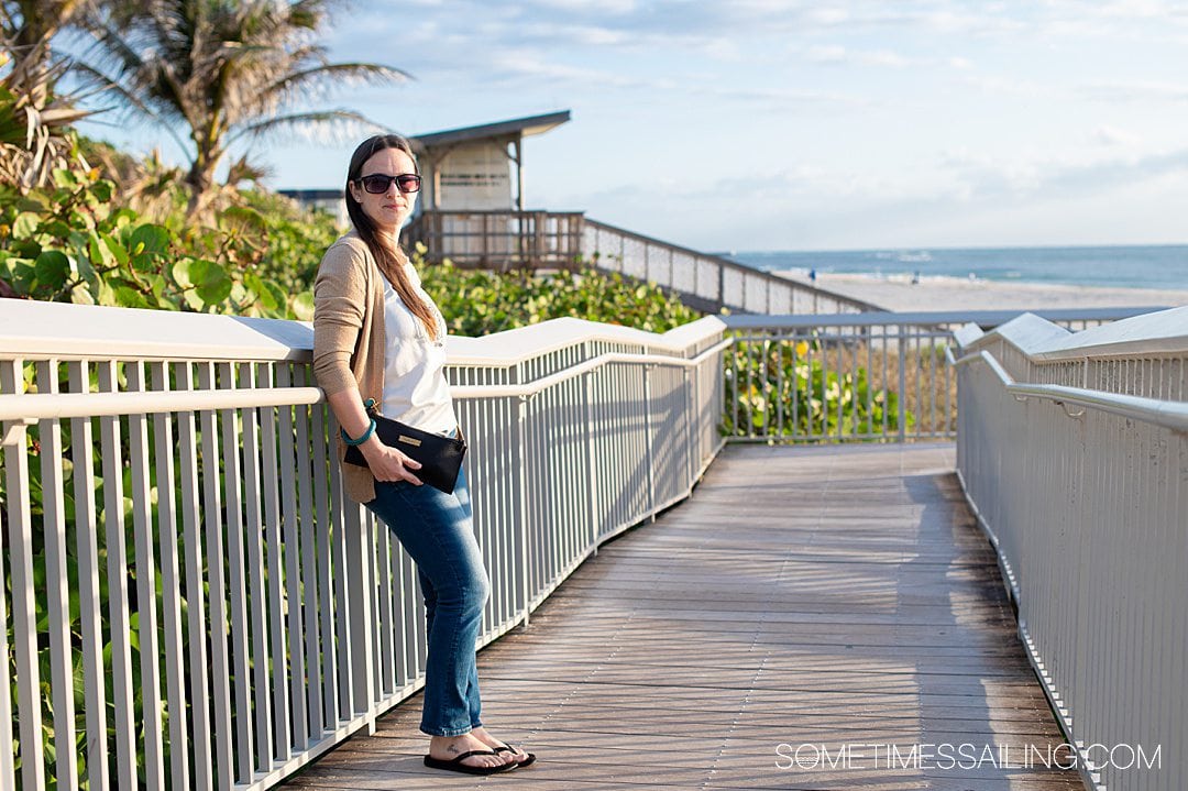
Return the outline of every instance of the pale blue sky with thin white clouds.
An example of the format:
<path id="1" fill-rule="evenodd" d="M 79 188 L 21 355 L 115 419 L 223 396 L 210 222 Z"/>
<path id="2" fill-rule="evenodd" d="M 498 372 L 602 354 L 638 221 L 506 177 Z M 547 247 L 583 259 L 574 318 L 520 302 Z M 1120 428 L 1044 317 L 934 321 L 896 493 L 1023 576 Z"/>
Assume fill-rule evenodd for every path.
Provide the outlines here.
<path id="1" fill-rule="evenodd" d="M 697 249 L 1188 242 L 1188 2 L 355 0 L 326 40 L 413 80 L 321 106 L 405 134 L 568 109 L 524 143 L 527 208 Z M 253 154 L 336 186 L 355 141 Z"/>

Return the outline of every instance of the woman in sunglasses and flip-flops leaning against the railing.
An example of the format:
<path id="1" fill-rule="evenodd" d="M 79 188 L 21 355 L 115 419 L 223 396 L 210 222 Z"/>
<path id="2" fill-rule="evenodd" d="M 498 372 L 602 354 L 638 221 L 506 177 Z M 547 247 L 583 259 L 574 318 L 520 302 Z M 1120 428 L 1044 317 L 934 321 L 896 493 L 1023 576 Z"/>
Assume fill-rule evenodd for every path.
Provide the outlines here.
<path id="1" fill-rule="evenodd" d="M 446 321 L 400 249 L 421 176 L 407 140 L 378 135 L 347 171 L 354 229 L 326 252 L 314 285 L 314 374 L 367 467 L 345 464 L 343 487 L 366 504 L 417 563 L 425 596 L 429 657 L 421 729 L 425 765 L 468 774 L 526 766 L 535 755 L 492 736 L 479 717 L 475 640 L 489 583 L 470 526 L 465 474 L 454 494 L 422 486 L 421 464 L 374 434 L 365 399 L 384 417 L 426 431 L 457 429 L 446 382 Z"/>

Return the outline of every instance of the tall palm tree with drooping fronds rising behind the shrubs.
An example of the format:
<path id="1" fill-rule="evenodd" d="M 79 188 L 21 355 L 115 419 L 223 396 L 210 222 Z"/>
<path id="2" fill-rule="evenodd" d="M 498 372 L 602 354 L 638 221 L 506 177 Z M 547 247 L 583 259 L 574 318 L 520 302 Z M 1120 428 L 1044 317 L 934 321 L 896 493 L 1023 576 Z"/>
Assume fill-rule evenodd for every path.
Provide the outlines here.
<path id="1" fill-rule="evenodd" d="M 134 114 L 162 125 L 190 159 L 190 211 L 215 189 L 228 148 L 280 131 L 371 126 L 343 109 L 301 110 L 311 91 L 409 77 L 374 63 L 330 63 L 315 34 L 336 0 L 138 0 L 106 4 L 97 65 Z M 177 129 L 189 131 L 189 141 Z M 184 132 L 183 132 L 184 133 Z"/>

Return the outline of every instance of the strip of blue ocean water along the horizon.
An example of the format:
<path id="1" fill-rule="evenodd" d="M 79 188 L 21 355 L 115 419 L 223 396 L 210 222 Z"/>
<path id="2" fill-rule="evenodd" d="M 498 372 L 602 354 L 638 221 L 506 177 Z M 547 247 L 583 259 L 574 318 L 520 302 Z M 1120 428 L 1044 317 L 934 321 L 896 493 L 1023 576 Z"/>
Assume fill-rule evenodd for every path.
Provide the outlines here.
<path id="1" fill-rule="evenodd" d="M 1130 247 L 972 247 L 828 252 L 738 252 L 728 258 L 765 271 L 961 278 L 1188 290 L 1188 245 Z"/>

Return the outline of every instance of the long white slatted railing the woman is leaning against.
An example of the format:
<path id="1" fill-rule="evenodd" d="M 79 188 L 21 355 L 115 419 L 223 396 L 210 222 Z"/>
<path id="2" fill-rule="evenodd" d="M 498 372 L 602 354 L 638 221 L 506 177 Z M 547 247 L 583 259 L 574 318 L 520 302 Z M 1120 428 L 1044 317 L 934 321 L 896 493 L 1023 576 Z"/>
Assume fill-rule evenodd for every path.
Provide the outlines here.
<path id="1" fill-rule="evenodd" d="M 264 789 L 421 686 L 412 564 L 340 495 L 311 340 L 0 300 L 0 787 Z M 727 343 L 716 318 L 449 340 L 482 644 L 688 495 Z"/>

